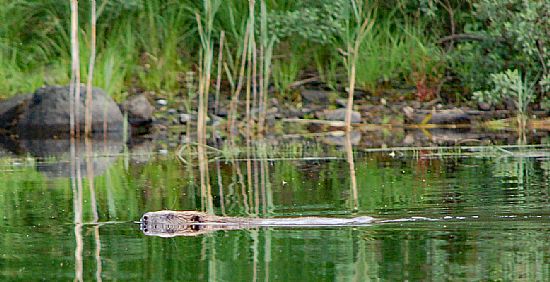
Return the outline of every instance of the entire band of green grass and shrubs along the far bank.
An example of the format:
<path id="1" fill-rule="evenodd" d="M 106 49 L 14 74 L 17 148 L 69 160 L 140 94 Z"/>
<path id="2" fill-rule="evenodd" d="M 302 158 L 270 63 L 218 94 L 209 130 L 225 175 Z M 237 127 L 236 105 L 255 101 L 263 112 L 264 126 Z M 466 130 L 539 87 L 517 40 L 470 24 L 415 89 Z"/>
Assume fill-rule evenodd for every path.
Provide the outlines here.
<path id="1" fill-rule="evenodd" d="M 1 97 L 69 82 L 70 9 L 66 2 L 0 0 Z M 118 100 L 136 90 L 187 97 L 186 73 L 200 69 L 204 47 L 195 14 L 211 2 L 98 1 L 95 85 Z M 255 3 L 252 33 L 258 52 L 272 48 L 271 71 L 263 67 L 262 72 L 264 81 L 271 77 L 269 81 L 281 94 L 277 97 L 288 98 L 299 85 L 295 82 L 308 78 L 333 89 L 347 86 L 341 58 L 348 50 L 342 35 L 358 28 L 349 18 L 353 13 L 344 12 L 353 10 L 354 1 L 270 0 L 260 15 L 261 2 Z M 210 40 L 217 50 L 220 34 L 225 33 L 221 77 L 225 98 L 228 92 L 235 93 L 241 59 L 251 48 L 243 50 L 248 4 L 239 0 L 215 5 Z M 88 3 L 81 3 L 82 61 L 90 53 L 89 9 Z M 357 54 L 358 88 L 379 94 L 385 87 L 416 88 L 420 100 L 437 96 L 453 101 L 455 93 L 446 93 L 442 85 L 461 87 L 461 97 L 469 99 L 475 91 L 497 91 L 492 75 L 518 70 L 522 81 L 533 83 L 532 101 L 543 107 L 548 103 L 548 1 L 392 0 L 370 1 L 365 9 L 376 17 Z M 214 67 L 217 57 L 212 58 Z M 259 68 L 265 58 L 258 59 Z M 83 65 L 83 81 L 86 71 Z"/>

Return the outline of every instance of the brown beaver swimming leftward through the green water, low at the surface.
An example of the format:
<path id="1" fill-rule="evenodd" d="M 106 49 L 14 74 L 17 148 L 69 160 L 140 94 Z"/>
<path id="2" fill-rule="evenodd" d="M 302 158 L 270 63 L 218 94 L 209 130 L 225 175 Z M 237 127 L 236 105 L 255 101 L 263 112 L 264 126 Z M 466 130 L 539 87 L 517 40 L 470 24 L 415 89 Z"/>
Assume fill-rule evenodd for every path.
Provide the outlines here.
<path id="1" fill-rule="evenodd" d="M 376 222 L 370 216 L 353 218 L 331 217 L 284 217 L 246 218 L 216 216 L 198 211 L 156 211 L 145 213 L 140 220 L 145 235 L 173 237 L 196 236 L 217 230 L 232 230 L 253 227 L 321 227 L 363 226 Z"/>

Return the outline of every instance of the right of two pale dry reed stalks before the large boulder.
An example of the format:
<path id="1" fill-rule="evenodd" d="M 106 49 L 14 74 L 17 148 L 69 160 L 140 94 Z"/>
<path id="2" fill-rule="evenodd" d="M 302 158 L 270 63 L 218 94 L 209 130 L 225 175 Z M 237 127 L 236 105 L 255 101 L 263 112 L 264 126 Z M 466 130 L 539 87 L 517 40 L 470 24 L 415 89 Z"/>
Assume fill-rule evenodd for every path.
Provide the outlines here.
<path id="1" fill-rule="evenodd" d="M 88 82 L 86 83 L 86 106 L 85 106 L 85 125 L 84 134 L 92 134 L 92 81 L 94 77 L 94 65 L 96 57 L 96 0 L 91 0 L 91 42 L 90 42 L 90 62 L 88 65 Z"/>

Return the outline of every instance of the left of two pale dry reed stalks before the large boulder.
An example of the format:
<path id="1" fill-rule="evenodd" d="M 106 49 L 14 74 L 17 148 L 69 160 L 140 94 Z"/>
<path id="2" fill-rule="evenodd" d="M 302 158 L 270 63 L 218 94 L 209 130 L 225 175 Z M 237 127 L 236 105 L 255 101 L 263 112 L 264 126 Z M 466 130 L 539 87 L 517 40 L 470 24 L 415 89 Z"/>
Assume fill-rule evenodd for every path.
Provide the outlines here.
<path id="1" fill-rule="evenodd" d="M 71 0 L 71 86 L 72 100 L 69 105 L 71 136 L 80 136 L 80 59 L 78 44 L 78 0 Z"/>

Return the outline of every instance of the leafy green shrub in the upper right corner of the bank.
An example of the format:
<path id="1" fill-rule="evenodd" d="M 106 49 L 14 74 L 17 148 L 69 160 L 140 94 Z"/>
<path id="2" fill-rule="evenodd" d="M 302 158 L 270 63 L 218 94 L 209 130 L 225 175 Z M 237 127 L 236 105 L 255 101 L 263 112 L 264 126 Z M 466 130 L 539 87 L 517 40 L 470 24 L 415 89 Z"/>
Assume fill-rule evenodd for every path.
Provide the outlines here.
<path id="1" fill-rule="evenodd" d="M 464 30 L 481 40 L 461 43 L 451 54 L 452 68 L 467 88 L 488 90 L 494 79 L 487 78 L 506 69 L 548 73 L 548 1 L 481 0 L 473 7 L 475 19 Z"/>

